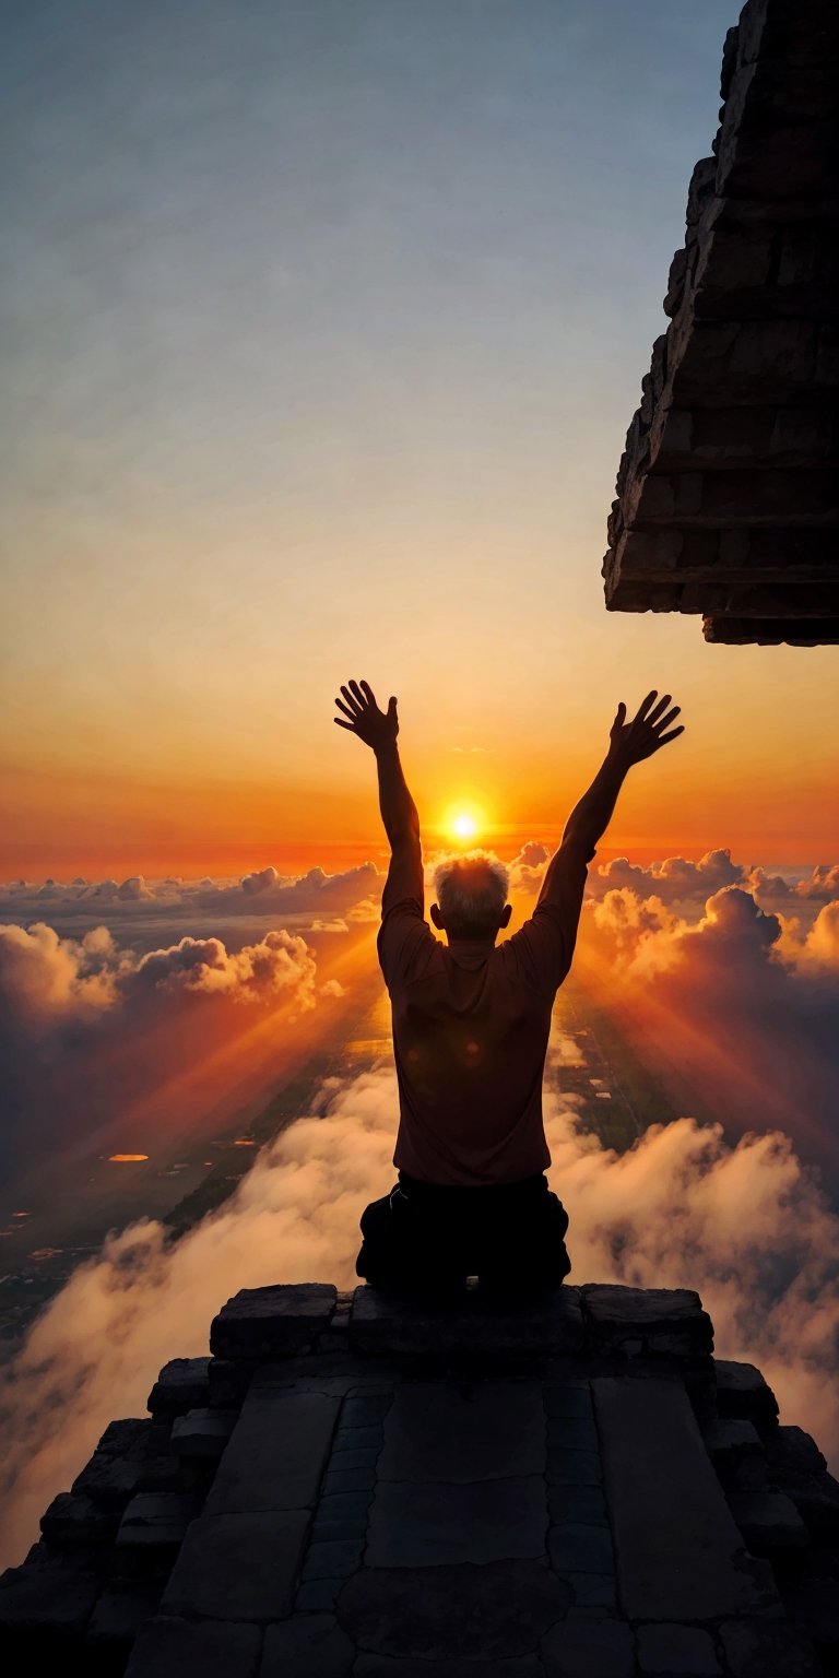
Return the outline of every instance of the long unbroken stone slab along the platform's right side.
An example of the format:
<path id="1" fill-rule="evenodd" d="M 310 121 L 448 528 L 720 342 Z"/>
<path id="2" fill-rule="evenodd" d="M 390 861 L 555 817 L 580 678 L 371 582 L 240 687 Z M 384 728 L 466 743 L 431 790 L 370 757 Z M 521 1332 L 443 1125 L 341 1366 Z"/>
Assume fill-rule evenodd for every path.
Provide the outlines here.
<path id="1" fill-rule="evenodd" d="M 777 1609 L 745 1552 L 681 1383 L 592 1381 L 624 1614 L 703 1623 Z"/>

